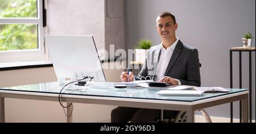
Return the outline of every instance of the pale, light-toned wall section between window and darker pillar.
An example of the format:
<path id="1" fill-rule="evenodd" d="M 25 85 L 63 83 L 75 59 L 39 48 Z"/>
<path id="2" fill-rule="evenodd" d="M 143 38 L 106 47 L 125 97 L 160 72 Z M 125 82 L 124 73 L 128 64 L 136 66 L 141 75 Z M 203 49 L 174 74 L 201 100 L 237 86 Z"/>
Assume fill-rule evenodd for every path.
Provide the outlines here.
<path id="1" fill-rule="evenodd" d="M 105 3 L 102 0 L 47 1 L 48 34 L 93 35 L 105 49 Z"/>

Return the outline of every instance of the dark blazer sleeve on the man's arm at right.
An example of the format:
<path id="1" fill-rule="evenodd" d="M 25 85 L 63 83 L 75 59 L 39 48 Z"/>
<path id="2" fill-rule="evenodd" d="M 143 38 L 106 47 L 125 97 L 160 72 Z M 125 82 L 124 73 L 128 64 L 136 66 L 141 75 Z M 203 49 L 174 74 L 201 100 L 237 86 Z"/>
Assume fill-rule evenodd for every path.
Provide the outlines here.
<path id="1" fill-rule="evenodd" d="M 186 70 L 186 79 L 180 80 L 181 85 L 193 85 L 200 87 L 200 63 L 197 49 L 192 49 L 192 52 L 188 57 Z"/>

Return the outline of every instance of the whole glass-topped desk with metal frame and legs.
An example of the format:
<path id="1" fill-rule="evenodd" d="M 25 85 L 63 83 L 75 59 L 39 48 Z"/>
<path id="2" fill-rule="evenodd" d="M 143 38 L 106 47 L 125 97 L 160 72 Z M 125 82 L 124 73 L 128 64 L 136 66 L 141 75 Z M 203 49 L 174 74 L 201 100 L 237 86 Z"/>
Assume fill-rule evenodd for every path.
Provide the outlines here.
<path id="1" fill-rule="evenodd" d="M 57 85 L 57 82 L 1 88 L 0 122 L 5 122 L 5 98 L 59 101 L 61 88 L 63 86 Z M 187 121 L 194 122 L 195 110 L 241 100 L 242 121 L 248 122 L 248 89 L 228 90 L 228 93 L 203 93 L 202 96 L 160 96 L 155 94 L 159 89 L 117 89 L 113 83 L 92 81 L 86 89 L 63 90 L 63 101 L 67 105 L 75 102 L 187 111 Z M 67 114 L 71 114 L 71 108 L 67 109 Z M 72 122 L 72 116 L 67 117 L 67 122 Z"/>

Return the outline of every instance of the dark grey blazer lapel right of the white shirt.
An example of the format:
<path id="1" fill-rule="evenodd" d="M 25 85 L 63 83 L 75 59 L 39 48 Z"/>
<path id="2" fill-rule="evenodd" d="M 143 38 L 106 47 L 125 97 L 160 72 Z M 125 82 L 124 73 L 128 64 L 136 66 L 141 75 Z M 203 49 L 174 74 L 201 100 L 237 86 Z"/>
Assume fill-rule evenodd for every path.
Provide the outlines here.
<path id="1" fill-rule="evenodd" d="M 172 53 L 172 57 L 168 63 L 168 66 L 166 68 L 166 72 L 164 73 L 164 76 L 166 76 L 167 73 L 171 70 L 172 66 L 174 66 L 174 63 L 176 62 L 176 59 L 179 57 L 179 55 L 182 51 L 182 48 L 183 48 L 183 43 L 179 40 L 174 49 L 174 53 Z"/>

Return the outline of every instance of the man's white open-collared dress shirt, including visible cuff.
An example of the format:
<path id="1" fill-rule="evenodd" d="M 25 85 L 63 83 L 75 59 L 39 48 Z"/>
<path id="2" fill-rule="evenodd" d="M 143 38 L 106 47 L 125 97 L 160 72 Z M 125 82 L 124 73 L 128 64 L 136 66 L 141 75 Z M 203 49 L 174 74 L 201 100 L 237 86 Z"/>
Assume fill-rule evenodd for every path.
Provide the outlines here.
<path id="1" fill-rule="evenodd" d="M 164 77 L 164 73 L 166 72 L 166 68 L 170 62 L 170 59 L 172 57 L 172 53 L 174 53 L 174 49 L 177 45 L 177 42 L 179 41 L 179 38 L 176 37 L 177 40 L 169 47 L 167 47 L 167 49 L 165 49 L 163 47 L 163 43 L 162 43 L 162 48 L 161 48 L 161 53 L 159 56 L 159 62 L 158 62 L 158 67 L 157 67 L 157 71 L 156 71 L 156 76 L 157 76 L 157 80 L 159 81 L 162 77 Z M 177 80 L 177 79 L 175 79 Z M 178 85 L 181 85 L 180 81 L 177 80 L 179 82 Z"/>

